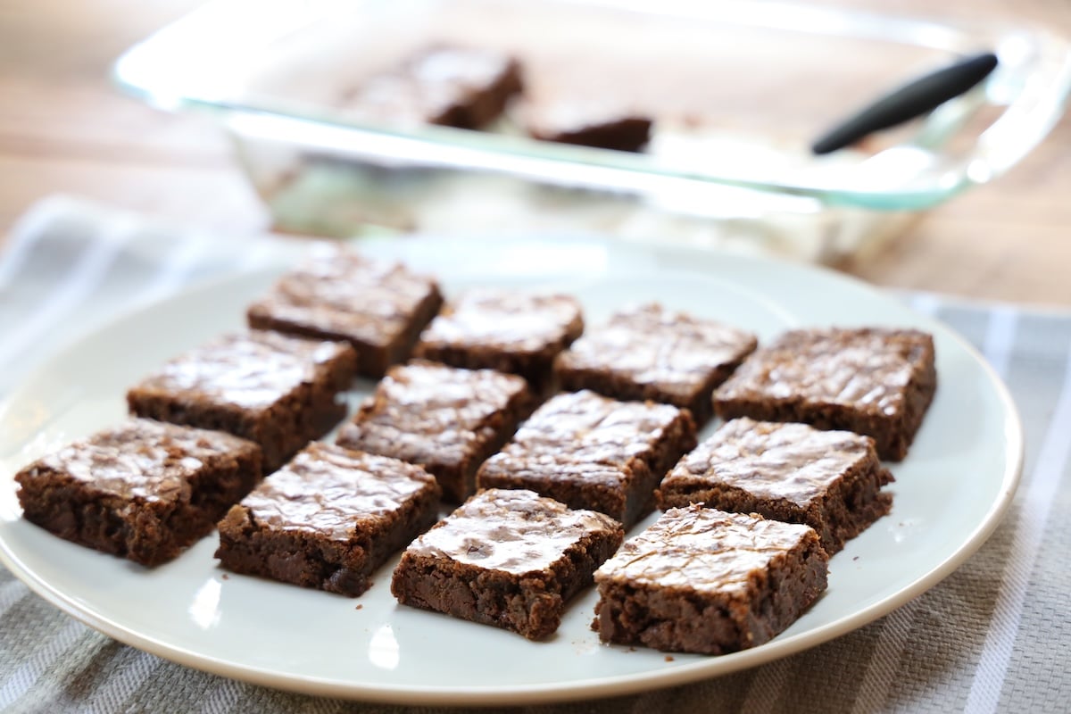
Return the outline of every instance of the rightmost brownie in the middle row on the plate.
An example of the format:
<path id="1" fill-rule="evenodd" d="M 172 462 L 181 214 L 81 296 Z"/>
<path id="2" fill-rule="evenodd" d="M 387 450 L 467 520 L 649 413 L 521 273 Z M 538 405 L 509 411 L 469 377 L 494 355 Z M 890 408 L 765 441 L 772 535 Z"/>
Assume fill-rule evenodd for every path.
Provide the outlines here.
<path id="1" fill-rule="evenodd" d="M 698 503 L 805 523 L 833 555 L 889 513 L 881 487 L 892 480 L 870 437 L 744 416 L 682 457 L 657 495 L 662 508 Z"/>

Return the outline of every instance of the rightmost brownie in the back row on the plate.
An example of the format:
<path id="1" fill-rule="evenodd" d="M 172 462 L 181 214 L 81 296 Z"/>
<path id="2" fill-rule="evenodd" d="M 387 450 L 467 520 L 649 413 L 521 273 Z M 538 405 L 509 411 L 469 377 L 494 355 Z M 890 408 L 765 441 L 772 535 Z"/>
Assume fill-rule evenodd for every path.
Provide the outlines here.
<path id="1" fill-rule="evenodd" d="M 937 389 L 933 338 L 917 330 L 794 330 L 760 348 L 714 392 L 729 420 L 803 422 L 874 438 L 901 460 Z"/>

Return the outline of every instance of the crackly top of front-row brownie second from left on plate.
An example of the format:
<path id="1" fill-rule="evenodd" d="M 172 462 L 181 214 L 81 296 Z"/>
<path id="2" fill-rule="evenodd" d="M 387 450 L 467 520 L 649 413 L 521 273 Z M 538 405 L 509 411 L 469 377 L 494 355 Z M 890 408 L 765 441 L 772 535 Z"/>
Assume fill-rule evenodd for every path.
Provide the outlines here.
<path id="1" fill-rule="evenodd" d="M 242 499 L 252 518 L 272 530 L 306 531 L 348 541 L 362 525 L 389 520 L 435 477 L 386 456 L 313 442 Z"/>

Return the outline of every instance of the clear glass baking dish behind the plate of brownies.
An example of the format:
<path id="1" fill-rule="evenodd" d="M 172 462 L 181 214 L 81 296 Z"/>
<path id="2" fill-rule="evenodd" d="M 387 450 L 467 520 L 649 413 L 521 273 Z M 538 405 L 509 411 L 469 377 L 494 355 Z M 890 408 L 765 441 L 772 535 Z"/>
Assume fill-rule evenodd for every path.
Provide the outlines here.
<path id="1" fill-rule="evenodd" d="M 346 97 L 429 46 L 518 59 L 526 94 L 654 118 L 631 153 L 371 123 Z M 977 51 L 999 65 L 922 119 L 828 156 L 811 141 Z M 127 50 L 124 90 L 218 112 L 276 227 L 600 230 L 835 260 L 1013 166 L 1060 118 L 1069 44 L 1008 22 L 714 0 L 216 0 Z"/>

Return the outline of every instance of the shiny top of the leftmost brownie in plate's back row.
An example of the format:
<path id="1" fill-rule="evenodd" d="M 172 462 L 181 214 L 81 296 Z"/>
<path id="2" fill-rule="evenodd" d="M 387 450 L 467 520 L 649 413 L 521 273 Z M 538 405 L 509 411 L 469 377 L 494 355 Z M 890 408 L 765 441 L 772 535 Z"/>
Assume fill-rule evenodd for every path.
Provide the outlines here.
<path id="1" fill-rule="evenodd" d="M 250 314 L 386 344 L 404 332 L 420 304 L 437 292 L 433 278 L 401 263 L 319 245 L 251 305 Z"/>

